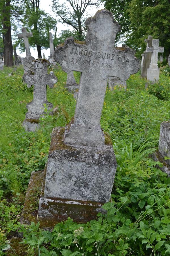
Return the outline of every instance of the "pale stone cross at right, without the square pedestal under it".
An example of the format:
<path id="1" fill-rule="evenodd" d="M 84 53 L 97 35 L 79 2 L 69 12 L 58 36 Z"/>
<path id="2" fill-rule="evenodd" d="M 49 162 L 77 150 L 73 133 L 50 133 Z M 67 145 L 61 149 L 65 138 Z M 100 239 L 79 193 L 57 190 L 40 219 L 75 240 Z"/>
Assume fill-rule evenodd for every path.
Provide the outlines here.
<path id="1" fill-rule="evenodd" d="M 150 69 L 158 68 L 158 53 L 163 51 L 164 47 L 159 47 L 159 39 L 153 39 L 152 46 L 146 47 L 146 52 L 152 52 L 151 62 L 149 65 Z"/>

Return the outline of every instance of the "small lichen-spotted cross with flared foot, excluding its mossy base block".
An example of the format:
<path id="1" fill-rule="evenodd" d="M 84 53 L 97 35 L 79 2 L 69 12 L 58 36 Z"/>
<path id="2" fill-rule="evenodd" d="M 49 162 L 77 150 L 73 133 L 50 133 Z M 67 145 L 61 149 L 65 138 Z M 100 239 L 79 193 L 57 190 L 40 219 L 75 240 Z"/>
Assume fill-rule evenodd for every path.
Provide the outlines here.
<path id="1" fill-rule="evenodd" d="M 27 74 L 23 75 L 23 81 L 27 83 L 27 87 L 34 85 L 33 101 L 27 104 L 28 115 L 26 118 L 29 117 L 29 112 L 31 112 L 31 117 L 29 118 L 38 119 L 43 112 L 41 108 L 44 107 L 44 104 L 51 104 L 46 99 L 46 85 L 48 84 L 52 88 L 57 82 L 57 78 L 52 71 L 47 74 L 47 66 L 49 65 L 49 61 L 38 59 L 34 61 L 35 72 L 28 71 Z M 33 113 L 36 116 L 33 116 Z"/>

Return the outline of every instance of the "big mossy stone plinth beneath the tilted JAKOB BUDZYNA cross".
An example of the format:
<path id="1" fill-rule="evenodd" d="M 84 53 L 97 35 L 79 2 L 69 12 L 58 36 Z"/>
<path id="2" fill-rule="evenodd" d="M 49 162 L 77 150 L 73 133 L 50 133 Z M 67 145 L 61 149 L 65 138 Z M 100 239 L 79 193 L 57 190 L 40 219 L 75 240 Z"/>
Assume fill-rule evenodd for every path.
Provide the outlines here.
<path id="1" fill-rule="evenodd" d="M 52 132 L 39 217 L 89 221 L 110 200 L 117 168 L 111 138 L 105 135 L 102 149 L 72 147 L 63 141 L 64 130 Z"/>

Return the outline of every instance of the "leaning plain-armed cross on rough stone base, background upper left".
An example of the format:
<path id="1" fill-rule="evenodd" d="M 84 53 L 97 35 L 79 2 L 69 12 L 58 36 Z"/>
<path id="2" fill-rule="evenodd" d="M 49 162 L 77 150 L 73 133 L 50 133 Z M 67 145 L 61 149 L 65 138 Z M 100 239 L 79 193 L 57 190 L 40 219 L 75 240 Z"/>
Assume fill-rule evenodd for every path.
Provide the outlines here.
<path id="1" fill-rule="evenodd" d="M 23 65 L 24 65 L 24 73 L 27 73 L 27 71 L 32 70 L 34 71 L 34 65 L 32 64 L 32 61 L 35 60 L 33 56 L 31 56 L 31 52 L 29 49 L 29 41 L 28 38 L 32 37 L 32 33 L 28 33 L 26 28 L 22 28 L 22 34 L 18 34 L 18 38 L 24 38 L 24 45 L 25 45 L 25 51 L 26 51 L 26 57 L 24 58 Z"/>

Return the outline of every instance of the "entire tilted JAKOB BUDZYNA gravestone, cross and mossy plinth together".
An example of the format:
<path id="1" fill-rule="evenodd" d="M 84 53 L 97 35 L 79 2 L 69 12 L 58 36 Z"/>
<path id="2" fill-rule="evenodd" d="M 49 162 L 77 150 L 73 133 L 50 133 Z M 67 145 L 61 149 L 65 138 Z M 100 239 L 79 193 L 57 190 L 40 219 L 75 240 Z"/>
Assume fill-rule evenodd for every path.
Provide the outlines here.
<path id="1" fill-rule="evenodd" d="M 52 132 L 38 214 L 53 223 L 93 219 L 110 200 L 117 163 L 100 126 L 107 80 L 125 81 L 140 68 L 130 48 L 114 47 L 120 26 L 110 11 L 98 11 L 86 26 L 86 42 L 68 38 L 54 53 L 63 71 L 80 71 L 81 79 L 74 118 Z"/>

